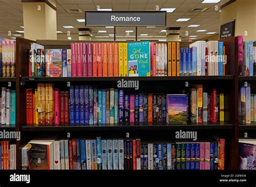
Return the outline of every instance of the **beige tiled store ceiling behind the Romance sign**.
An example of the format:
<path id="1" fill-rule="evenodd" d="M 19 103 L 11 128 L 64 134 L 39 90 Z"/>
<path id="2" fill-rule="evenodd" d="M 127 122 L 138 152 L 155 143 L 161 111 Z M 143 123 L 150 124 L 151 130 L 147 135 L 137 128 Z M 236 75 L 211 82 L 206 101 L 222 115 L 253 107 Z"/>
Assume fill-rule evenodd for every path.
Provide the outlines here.
<path id="1" fill-rule="evenodd" d="M 167 27 L 181 27 L 180 35 L 183 39 L 188 39 L 188 35 L 198 35 L 197 39 L 208 37 L 207 32 L 219 33 L 220 12 L 215 10 L 215 6 L 220 3 L 202 4 L 203 0 L 57 0 L 57 30 L 66 33 L 78 34 L 78 28 L 83 28 L 84 23 L 78 23 L 76 19 L 84 19 L 84 13 L 68 13 L 66 9 L 96 10 L 97 5 L 101 9 L 111 8 L 112 10 L 156 10 L 156 5 L 161 8 L 176 8 L 172 13 L 167 13 L 167 26 L 146 28 L 138 27 L 138 35 L 148 34 L 149 36 L 165 36 L 160 33 Z M 204 12 L 191 12 L 193 8 L 208 8 Z M 179 18 L 191 18 L 185 22 L 177 22 Z M 191 24 L 199 27 L 187 27 Z M 8 31 L 12 34 L 17 30 L 22 30 L 23 26 L 22 3 L 21 0 L 0 0 L 0 35 L 9 37 Z M 75 28 L 63 28 L 64 25 L 72 25 Z M 106 30 L 107 33 L 93 33 L 93 35 L 113 34 L 113 28 L 91 27 L 92 31 Z M 130 35 L 135 34 L 134 27 L 117 27 L 117 35 L 124 36 L 125 30 L 134 30 Z M 196 32 L 197 30 L 207 30 L 206 32 Z M 15 33 L 17 34 L 17 33 Z M 13 36 L 12 36 L 13 37 Z"/>

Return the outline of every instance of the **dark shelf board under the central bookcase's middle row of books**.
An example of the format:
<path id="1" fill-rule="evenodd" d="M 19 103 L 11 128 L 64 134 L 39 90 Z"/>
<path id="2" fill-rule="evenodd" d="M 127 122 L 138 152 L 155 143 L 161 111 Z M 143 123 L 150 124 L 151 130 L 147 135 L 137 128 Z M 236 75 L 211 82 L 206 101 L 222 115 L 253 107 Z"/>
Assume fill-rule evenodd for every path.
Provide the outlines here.
<path id="1" fill-rule="evenodd" d="M 130 126 L 129 126 L 130 124 Z M 22 126 L 26 132 L 50 132 L 50 131 L 169 131 L 169 130 L 230 130 L 233 125 L 227 122 L 203 123 L 188 125 L 170 125 L 166 123 L 129 123 L 129 124 L 106 124 L 106 126 Z"/>

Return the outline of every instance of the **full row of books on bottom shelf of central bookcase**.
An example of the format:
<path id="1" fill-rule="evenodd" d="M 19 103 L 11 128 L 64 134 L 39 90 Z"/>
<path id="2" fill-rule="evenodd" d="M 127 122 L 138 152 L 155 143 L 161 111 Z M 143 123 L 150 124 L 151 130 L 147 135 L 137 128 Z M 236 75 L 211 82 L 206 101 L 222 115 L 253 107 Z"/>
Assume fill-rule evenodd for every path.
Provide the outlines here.
<path id="1" fill-rule="evenodd" d="M 223 170 L 224 162 L 225 139 L 218 136 L 210 141 L 150 143 L 100 137 L 35 139 L 22 148 L 22 169 Z"/>

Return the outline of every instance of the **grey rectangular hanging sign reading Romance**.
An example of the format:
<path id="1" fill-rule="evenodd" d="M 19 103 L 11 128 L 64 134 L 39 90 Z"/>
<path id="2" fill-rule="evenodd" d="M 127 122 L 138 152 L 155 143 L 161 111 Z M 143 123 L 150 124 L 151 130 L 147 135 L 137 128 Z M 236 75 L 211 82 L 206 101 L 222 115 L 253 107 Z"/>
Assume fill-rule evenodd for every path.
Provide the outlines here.
<path id="1" fill-rule="evenodd" d="M 85 26 L 166 26 L 166 11 L 86 11 Z"/>

